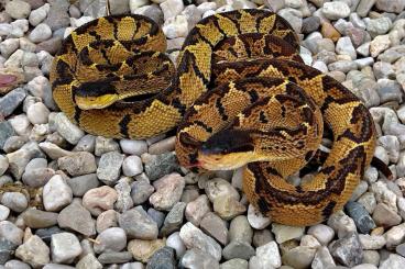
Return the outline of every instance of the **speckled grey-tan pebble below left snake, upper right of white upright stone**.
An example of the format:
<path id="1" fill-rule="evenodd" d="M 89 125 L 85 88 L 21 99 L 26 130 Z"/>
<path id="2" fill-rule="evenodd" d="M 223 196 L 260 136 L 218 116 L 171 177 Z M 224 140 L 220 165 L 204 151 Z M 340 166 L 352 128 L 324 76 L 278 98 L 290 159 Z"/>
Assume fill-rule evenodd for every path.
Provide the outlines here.
<path id="1" fill-rule="evenodd" d="M 57 159 L 57 166 L 73 177 L 94 173 L 97 170 L 95 156 L 87 152 L 62 157 Z"/>

